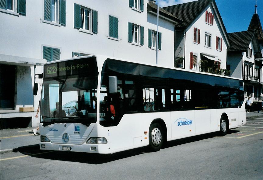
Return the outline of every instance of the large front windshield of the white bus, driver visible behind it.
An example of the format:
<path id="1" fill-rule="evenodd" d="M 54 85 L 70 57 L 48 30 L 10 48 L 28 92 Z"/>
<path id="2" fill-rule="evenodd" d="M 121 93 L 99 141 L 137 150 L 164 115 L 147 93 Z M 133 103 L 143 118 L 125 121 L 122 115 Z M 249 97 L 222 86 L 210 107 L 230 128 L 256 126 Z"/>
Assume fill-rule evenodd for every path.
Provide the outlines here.
<path id="1" fill-rule="evenodd" d="M 98 71 L 97 68 L 91 71 L 89 68 L 91 64 L 94 67 L 95 63 L 96 60 L 89 62 L 81 59 L 44 66 L 40 103 L 40 122 L 44 126 L 54 123 L 82 123 L 89 126 L 96 123 Z M 78 66 L 83 69 L 72 71 Z M 60 69 L 67 67 L 71 68 L 70 72 L 60 72 Z M 50 74 L 53 69 L 56 74 Z"/>

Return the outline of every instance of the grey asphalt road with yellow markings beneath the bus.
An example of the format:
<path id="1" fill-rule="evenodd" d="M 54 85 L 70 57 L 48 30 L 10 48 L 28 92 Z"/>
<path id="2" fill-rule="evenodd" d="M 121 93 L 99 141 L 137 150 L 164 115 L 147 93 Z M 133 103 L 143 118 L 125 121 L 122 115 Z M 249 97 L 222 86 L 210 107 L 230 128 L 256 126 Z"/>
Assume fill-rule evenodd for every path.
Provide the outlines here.
<path id="1" fill-rule="evenodd" d="M 263 179 L 263 116 L 248 118 L 225 137 L 216 135 L 170 141 L 158 152 L 96 155 L 20 147 L 1 154 L 0 179 Z"/>

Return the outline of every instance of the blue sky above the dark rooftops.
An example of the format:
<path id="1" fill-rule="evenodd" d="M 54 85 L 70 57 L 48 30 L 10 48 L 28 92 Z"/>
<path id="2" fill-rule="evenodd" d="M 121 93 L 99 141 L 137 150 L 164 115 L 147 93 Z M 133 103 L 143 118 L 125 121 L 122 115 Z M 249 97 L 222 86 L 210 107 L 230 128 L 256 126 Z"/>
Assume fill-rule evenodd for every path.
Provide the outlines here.
<path id="1" fill-rule="evenodd" d="M 159 0 L 160 7 L 186 3 L 195 0 Z M 227 33 L 247 30 L 254 14 L 255 0 L 215 0 Z M 157 3 L 157 0 L 156 0 Z M 263 26 L 263 0 L 258 0 L 258 15 Z"/>

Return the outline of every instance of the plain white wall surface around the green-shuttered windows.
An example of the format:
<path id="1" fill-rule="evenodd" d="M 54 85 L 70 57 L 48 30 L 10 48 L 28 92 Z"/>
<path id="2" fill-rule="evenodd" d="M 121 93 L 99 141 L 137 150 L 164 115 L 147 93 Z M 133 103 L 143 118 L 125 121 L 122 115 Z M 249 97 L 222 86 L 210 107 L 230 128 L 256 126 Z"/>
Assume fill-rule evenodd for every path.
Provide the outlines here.
<path id="1" fill-rule="evenodd" d="M 55 26 L 44 19 L 44 0 L 27 0 L 26 16 L 14 16 L 0 12 L 1 54 L 18 57 L 43 58 L 43 46 L 60 49 L 61 59 L 72 57 L 72 51 L 85 54 L 102 54 L 155 64 L 156 51 L 147 45 L 148 29 L 156 30 L 155 16 L 129 7 L 129 1 L 74 0 L 66 3 L 66 26 Z M 74 28 L 74 3 L 98 11 L 98 33 L 89 34 Z M 108 39 L 108 16 L 119 18 L 119 41 Z M 128 22 L 144 26 L 144 45 L 128 43 Z M 57 24 L 59 25 L 59 24 Z M 173 65 L 174 24 L 160 19 L 162 49 L 159 62 Z"/>

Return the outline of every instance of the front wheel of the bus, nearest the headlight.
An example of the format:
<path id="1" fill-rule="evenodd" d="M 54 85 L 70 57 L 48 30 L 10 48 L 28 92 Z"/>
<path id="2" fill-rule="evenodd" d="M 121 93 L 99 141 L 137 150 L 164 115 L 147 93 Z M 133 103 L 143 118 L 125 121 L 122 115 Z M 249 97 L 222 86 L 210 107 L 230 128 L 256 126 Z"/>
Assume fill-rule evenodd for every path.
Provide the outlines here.
<path id="1" fill-rule="evenodd" d="M 158 123 L 151 124 L 149 128 L 149 150 L 151 152 L 159 151 L 163 146 L 164 131 Z"/>

